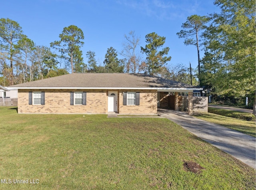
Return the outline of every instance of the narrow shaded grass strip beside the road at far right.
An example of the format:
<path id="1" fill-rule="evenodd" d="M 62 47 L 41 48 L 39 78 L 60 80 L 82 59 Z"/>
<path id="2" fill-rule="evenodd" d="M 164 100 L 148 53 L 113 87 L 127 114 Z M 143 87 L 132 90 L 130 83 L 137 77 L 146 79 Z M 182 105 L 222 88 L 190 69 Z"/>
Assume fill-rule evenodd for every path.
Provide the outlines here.
<path id="1" fill-rule="evenodd" d="M 226 109 L 219 109 L 219 108 L 208 108 L 208 112 L 222 115 L 222 116 L 232 117 L 232 118 L 255 121 L 255 116 L 254 114 L 251 114 L 251 113 L 237 112 L 233 110 L 226 110 Z"/>

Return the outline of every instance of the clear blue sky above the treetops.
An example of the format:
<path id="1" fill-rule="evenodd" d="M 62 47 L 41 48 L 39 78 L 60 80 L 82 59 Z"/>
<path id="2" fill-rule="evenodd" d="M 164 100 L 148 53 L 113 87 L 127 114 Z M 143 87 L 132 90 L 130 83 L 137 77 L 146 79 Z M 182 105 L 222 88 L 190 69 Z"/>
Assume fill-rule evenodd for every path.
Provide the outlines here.
<path id="1" fill-rule="evenodd" d="M 169 47 L 169 64 L 197 66 L 196 46 L 185 46 L 176 35 L 188 16 L 200 16 L 220 9 L 213 0 L 2 0 L 1 18 L 10 18 L 20 24 L 28 38 L 36 45 L 50 47 L 59 40 L 64 27 L 76 25 L 84 32 L 83 52 L 96 53 L 96 60 L 103 62 L 111 46 L 118 52 L 123 49 L 124 34 L 131 30 L 145 46 L 145 36 L 156 32 L 166 37 L 164 47 Z M 56 50 L 54 50 L 56 52 Z M 201 53 L 201 57 L 203 52 Z M 122 56 L 118 56 L 122 58 Z"/>

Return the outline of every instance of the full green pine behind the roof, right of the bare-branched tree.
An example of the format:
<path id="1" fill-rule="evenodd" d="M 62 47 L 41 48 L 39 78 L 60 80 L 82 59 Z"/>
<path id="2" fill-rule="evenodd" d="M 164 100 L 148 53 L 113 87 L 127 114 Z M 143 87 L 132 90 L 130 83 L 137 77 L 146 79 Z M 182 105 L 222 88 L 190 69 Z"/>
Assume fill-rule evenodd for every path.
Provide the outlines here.
<path id="1" fill-rule="evenodd" d="M 142 63 L 145 73 L 158 75 L 166 62 L 171 60 L 171 56 L 165 56 L 168 55 L 170 48 L 166 47 L 159 50 L 164 45 L 165 39 L 165 37 L 159 36 L 155 32 L 146 35 L 148 44 L 145 48 L 140 47 L 141 51 L 146 54 L 146 61 Z"/>

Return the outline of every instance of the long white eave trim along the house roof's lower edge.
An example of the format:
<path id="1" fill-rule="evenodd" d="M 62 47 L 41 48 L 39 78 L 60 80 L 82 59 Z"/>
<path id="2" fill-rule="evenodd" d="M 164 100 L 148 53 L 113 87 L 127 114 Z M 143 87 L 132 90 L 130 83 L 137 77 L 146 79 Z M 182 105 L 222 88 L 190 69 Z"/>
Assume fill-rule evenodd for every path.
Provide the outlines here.
<path id="1" fill-rule="evenodd" d="M 156 88 L 156 87 L 8 87 L 10 90 L 17 89 L 94 89 L 94 90 L 157 90 L 158 92 L 193 92 L 193 90 L 203 90 L 203 88 Z"/>

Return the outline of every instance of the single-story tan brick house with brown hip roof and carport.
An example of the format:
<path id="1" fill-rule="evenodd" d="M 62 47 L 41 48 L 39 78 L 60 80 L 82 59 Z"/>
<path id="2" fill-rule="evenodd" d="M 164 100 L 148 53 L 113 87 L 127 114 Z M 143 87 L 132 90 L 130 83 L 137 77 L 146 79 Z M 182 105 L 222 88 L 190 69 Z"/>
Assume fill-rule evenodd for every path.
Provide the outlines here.
<path id="1" fill-rule="evenodd" d="M 156 114 L 158 107 L 166 106 L 169 92 L 175 96 L 188 92 L 188 114 L 192 114 L 193 90 L 202 90 L 157 76 L 128 73 L 73 73 L 8 89 L 18 89 L 20 114 Z"/>

